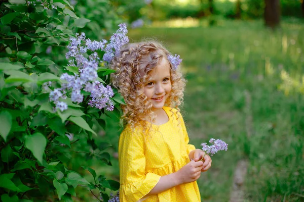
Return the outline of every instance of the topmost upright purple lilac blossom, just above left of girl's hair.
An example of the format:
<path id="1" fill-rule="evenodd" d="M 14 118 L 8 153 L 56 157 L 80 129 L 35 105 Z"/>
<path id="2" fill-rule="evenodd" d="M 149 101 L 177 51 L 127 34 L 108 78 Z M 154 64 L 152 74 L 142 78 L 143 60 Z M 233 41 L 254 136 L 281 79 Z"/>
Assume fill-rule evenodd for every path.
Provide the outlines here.
<path id="1" fill-rule="evenodd" d="M 120 48 L 129 43 L 129 38 L 127 36 L 128 30 L 126 24 L 120 24 L 119 29 L 110 38 L 110 42 L 105 47 L 105 54 L 103 55 L 103 60 L 106 62 L 111 62 L 113 57 L 115 57 Z"/>

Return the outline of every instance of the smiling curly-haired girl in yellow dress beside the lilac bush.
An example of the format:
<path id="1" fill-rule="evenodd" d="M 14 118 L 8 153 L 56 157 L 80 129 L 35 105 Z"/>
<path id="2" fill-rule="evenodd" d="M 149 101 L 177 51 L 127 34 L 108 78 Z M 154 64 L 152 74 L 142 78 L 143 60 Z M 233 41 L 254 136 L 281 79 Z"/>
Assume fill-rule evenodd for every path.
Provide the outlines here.
<path id="1" fill-rule="evenodd" d="M 201 201 L 196 180 L 210 168 L 211 158 L 188 144 L 178 108 L 185 85 L 178 60 L 148 41 L 129 44 L 111 63 L 113 85 L 126 102 L 120 201 Z"/>

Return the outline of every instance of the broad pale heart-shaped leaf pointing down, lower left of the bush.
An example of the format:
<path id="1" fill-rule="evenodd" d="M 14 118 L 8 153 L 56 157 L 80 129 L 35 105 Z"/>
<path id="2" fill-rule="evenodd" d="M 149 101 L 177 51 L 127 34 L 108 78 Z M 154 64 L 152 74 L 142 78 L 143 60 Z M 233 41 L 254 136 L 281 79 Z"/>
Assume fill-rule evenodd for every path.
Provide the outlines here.
<path id="1" fill-rule="evenodd" d="M 41 133 L 26 136 L 25 147 L 28 148 L 34 157 L 42 164 L 44 151 L 47 145 L 46 137 Z"/>

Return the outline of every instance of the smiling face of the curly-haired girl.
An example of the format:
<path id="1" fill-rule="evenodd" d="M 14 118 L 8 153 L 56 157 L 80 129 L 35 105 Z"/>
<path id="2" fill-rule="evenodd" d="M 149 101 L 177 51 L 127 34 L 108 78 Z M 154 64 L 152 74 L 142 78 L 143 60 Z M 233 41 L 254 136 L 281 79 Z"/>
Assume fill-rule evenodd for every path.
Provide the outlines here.
<path id="1" fill-rule="evenodd" d="M 153 111 L 162 109 L 171 91 L 170 65 L 168 60 L 162 59 L 158 66 L 149 74 L 144 86 L 144 94 L 153 104 Z"/>

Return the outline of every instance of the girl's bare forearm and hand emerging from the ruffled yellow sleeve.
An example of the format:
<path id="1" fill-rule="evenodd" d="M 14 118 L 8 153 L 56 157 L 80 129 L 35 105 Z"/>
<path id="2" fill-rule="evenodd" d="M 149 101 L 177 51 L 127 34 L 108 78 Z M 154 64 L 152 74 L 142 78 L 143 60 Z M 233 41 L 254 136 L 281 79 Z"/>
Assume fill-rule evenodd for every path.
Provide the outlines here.
<path id="1" fill-rule="evenodd" d="M 194 182 L 201 176 L 202 161 L 191 161 L 179 171 L 162 176 L 156 186 L 146 195 L 155 195 L 183 183 Z"/>

